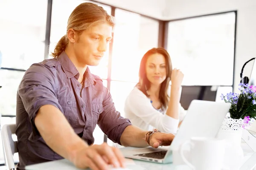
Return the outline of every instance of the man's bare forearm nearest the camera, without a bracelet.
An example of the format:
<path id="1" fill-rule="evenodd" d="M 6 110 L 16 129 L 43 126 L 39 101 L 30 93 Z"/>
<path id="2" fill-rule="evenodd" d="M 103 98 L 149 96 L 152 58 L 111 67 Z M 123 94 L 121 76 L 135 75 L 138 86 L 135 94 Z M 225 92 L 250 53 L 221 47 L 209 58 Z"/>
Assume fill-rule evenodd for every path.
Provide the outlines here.
<path id="1" fill-rule="evenodd" d="M 39 109 L 35 126 L 46 144 L 70 161 L 73 161 L 79 148 L 88 146 L 76 135 L 63 113 L 53 105 L 44 105 Z"/>

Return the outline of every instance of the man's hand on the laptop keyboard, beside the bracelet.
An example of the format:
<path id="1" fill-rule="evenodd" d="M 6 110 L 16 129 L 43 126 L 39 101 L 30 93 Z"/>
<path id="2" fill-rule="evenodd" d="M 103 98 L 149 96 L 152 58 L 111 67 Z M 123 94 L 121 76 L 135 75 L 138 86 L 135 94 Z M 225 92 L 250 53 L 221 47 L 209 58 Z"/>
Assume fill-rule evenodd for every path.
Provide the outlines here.
<path id="1" fill-rule="evenodd" d="M 169 146 L 174 139 L 174 135 L 171 133 L 153 133 L 149 137 L 149 143 L 151 147 L 157 148 L 159 146 Z"/>

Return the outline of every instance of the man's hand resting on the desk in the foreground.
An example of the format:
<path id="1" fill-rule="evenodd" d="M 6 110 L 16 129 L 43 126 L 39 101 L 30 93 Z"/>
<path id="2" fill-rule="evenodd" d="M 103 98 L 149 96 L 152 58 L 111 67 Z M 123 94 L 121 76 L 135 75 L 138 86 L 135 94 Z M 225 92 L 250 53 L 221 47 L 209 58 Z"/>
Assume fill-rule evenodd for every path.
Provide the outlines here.
<path id="1" fill-rule="evenodd" d="M 108 144 L 90 145 L 74 151 L 73 164 L 78 168 L 90 167 L 92 170 L 108 170 L 108 165 L 113 167 L 125 167 L 125 159 L 119 149 Z"/>

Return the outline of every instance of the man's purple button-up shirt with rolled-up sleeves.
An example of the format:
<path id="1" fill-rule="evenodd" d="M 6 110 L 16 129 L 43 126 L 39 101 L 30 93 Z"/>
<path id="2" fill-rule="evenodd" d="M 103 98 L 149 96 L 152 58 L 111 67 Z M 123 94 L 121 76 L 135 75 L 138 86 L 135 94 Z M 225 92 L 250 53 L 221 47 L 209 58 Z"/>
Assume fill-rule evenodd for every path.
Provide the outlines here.
<path id="1" fill-rule="evenodd" d="M 130 121 L 116 111 L 102 79 L 91 74 L 89 68 L 82 84 L 78 78 L 79 72 L 64 51 L 58 58 L 33 64 L 26 71 L 17 92 L 16 135 L 20 161 L 17 169 L 63 159 L 47 146 L 35 127 L 35 116 L 43 105 L 58 108 L 88 144 L 94 142 L 96 124 L 109 139 L 120 144 L 120 137 L 125 127 L 131 125 Z"/>

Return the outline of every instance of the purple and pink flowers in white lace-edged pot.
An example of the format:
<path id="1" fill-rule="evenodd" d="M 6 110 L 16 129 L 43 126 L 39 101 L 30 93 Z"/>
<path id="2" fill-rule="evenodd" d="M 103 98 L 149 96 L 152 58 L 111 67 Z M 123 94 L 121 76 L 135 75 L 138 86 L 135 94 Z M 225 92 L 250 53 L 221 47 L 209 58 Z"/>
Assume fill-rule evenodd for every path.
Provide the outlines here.
<path id="1" fill-rule="evenodd" d="M 244 157 L 241 148 L 242 131 L 256 117 L 256 86 L 240 83 L 239 91 L 239 94 L 221 94 L 221 99 L 231 103 L 231 107 L 217 134 L 218 139 L 226 140 L 224 167 L 232 170 L 239 169 Z"/>

